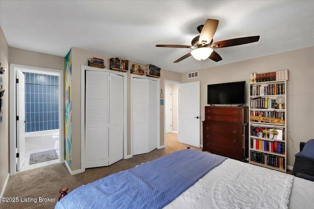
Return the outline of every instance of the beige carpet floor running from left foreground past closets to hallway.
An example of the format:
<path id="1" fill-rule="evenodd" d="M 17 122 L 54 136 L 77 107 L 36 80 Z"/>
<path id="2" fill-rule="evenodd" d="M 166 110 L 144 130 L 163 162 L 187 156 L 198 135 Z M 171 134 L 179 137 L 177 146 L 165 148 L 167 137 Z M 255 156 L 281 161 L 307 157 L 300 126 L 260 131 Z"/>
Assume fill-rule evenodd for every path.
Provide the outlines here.
<path id="1" fill-rule="evenodd" d="M 171 152 L 186 149 L 186 144 L 178 142 L 177 134 L 166 134 L 166 148 L 155 149 L 150 153 L 123 159 L 110 166 L 89 168 L 85 172 L 71 176 L 65 164 L 52 164 L 17 173 L 9 178 L 3 197 L 17 197 L 19 202 L 1 202 L 0 209 L 53 209 L 59 197 L 59 189 L 69 187 L 71 192 L 78 186 L 86 185 L 100 178 L 135 165 L 155 160 Z M 191 149 L 202 150 L 191 146 Z M 46 199 L 45 199 L 46 198 Z M 54 202 L 39 202 L 40 200 Z M 26 201 L 31 202 L 26 202 Z M 34 203 L 36 200 L 36 203 Z M 24 201 L 24 202 L 21 202 Z"/>

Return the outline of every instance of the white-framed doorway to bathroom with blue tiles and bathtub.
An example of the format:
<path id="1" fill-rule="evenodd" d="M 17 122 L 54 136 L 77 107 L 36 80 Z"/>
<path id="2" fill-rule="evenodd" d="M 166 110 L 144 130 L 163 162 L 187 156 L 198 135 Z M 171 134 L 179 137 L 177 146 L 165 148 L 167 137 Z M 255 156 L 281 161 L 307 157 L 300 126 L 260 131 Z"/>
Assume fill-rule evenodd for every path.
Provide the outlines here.
<path id="1" fill-rule="evenodd" d="M 10 175 L 64 163 L 63 71 L 11 64 L 10 76 Z"/>

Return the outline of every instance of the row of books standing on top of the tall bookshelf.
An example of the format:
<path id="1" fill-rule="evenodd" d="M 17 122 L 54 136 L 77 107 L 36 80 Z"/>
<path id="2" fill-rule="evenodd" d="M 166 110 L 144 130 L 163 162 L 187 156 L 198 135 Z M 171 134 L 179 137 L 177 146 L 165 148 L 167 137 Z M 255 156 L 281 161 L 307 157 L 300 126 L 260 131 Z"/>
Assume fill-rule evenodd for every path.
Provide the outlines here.
<path id="1" fill-rule="evenodd" d="M 250 83 L 288 80 L 288 69 L 265 73 L 250 73 Z"/>

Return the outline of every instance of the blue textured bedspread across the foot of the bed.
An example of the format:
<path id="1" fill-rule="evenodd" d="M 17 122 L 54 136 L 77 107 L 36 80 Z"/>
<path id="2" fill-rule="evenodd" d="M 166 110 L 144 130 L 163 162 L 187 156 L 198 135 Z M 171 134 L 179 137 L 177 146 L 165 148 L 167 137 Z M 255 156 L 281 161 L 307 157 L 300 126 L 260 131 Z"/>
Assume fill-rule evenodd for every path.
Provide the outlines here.
<path id="1" fill-rule="evenodd" d="M 159 209 L 227 158 L 184 149 L 80 186 L 55 209 Z"/>

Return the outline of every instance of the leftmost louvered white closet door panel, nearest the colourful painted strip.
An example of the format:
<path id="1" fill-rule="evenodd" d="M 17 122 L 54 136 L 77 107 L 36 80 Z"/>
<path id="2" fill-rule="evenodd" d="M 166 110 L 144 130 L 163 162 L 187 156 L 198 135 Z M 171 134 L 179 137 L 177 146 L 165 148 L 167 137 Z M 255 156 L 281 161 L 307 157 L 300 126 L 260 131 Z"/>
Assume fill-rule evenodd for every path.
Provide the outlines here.
<path id="1" fill-rule="evenodd" d="M 108 76 L 86 71 L 85 168 L 108 165 Z"/>

